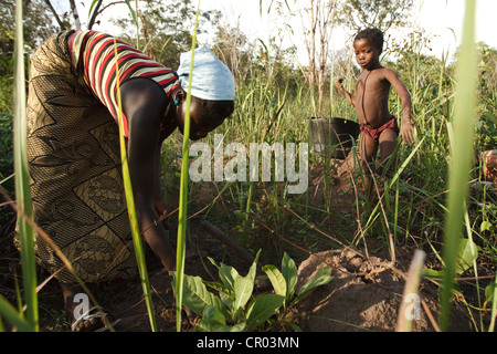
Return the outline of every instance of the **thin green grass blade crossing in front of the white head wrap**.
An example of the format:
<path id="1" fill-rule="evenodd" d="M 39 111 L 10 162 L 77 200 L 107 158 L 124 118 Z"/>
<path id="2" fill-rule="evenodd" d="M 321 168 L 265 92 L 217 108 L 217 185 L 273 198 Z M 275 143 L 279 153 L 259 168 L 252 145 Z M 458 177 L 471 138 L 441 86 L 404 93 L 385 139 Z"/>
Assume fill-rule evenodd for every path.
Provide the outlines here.
<path id="1" fill-rule="evenodd" d="M 178 241 L 177 241 L 177 281 L 176 281 L 176 330 L 181 331 L 181 306 L 183 301 L 183 281 L 184 281 L 184 252 L 187 243 L 187 219 L 188 219 L 188 160 L 189 160 L 189 139 L 190 139 L 190 104 L 191 104 L 191 80 L 193 76 L 193 59 L 197 45 L 197 27 L 199 24 L 200 0 L 197 6 L 195 25 L 193 30 L 193 40 L 191 43 L 191 63 L 190 76 L 187 93 L 187 114 L 183 125 L 183 145 L 181 154 L 181 183 L 178 211 Z"/>

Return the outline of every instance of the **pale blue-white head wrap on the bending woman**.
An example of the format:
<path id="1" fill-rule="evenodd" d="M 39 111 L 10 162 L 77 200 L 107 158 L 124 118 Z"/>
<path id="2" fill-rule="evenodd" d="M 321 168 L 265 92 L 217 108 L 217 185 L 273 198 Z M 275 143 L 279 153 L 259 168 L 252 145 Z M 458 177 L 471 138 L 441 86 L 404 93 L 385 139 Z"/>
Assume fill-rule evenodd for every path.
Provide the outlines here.
<path id="1" fill-rule="evenodd" d="M 188 92 L 191 51 L 182 53 L 178 75 L 181 87 Z M 194 52 L 191 95 L 208 101 L 233 101 L 235 85 L 233 75 L 226 65 L 202 45 Z"/>

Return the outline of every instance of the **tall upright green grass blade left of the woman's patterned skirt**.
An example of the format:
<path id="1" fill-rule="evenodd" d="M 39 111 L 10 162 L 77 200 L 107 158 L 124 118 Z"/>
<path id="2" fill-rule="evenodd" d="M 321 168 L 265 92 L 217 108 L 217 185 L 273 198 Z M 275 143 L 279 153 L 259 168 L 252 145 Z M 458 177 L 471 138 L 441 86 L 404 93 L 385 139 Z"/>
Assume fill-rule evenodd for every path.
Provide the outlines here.
<path id="1" fill-rule="evenodd" d="M 24 38 L 22 24 L 22 1 L 15 4 L 15 76 L 14 76 L 14 171 L 15 197 L 18 209 L 31 218 L 30 174 L 27 152 L 27 117 L 25 117 L 25 72 L 24 72 Z M 22 281 L 27 319 L 34 331 L 39 330 L 36 263 L 34 256 L 33 229 L 18 212 L 19 240 L 21 247 Z"/>

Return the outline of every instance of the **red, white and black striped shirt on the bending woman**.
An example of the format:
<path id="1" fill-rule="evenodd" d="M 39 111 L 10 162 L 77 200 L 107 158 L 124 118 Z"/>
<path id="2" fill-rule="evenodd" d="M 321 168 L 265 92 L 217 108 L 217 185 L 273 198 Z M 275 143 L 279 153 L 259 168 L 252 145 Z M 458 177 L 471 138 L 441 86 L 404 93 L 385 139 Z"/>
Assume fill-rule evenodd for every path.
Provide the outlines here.
<path id="1" fill-rule="evenodd" d="M 170 97 L 171 92 L 179 86 L 179 81 L 171 69 L 155 62 L 128 43 L 114 40 L 114 37 L 102 32 L 77 31 L 71 35 L 68 49 L 75 72 L 83 75 L 88 88 L 118 122 L 116 59 L 120 85 L 131 77 L 147 77 L 156 81 Z M 128 125 L 124 114 L 123 128 L 127 137 Z"/>

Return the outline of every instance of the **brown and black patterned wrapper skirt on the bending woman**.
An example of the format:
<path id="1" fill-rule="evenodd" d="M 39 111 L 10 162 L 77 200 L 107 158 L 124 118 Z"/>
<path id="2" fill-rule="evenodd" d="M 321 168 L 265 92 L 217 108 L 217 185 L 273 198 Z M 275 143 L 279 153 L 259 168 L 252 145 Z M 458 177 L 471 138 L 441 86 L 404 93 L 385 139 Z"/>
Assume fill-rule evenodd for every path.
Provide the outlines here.
<path id="1" fill-rule="evenodd" d="M 136 259 L 124 194 L 119 132 L 106 107 L 71 65 L 63 32 L 31 60 L 28 159 L 33 220 L 84 282 L 127 279 Z M 64 268 L 35 230 L 38 261 Z M 74 283 L 63 269 L 56 278 Z"/>

